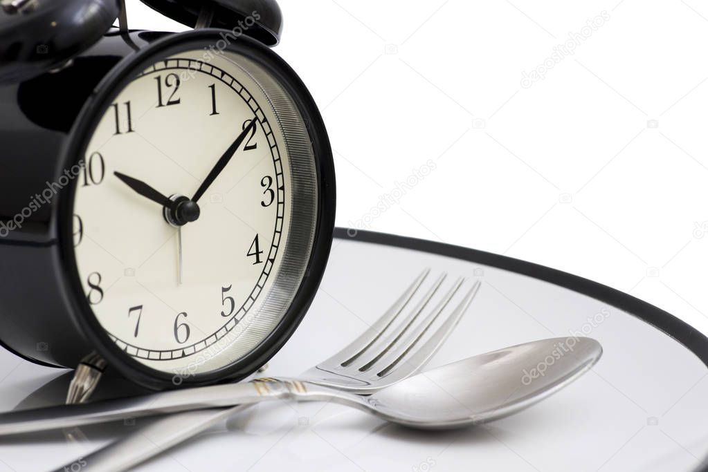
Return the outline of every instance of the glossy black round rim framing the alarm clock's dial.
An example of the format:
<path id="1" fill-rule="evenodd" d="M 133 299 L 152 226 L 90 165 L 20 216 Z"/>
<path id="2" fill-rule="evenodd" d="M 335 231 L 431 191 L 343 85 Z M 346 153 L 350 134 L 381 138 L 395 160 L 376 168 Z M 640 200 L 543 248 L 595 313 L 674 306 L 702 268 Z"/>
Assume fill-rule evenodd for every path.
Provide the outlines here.
<path id="1" fill-rule="evenodd" d="M 187 33 L 174 33 L 157 40 L 120 61 L 103 78 L 89 100 L 86 101 L 69 134 L 67 146 L 60 158 L 61 165 L 59 168 L 69 169 L 85 155 L 90 133 L 95 129 L 110 103 L 125 88 L 125 85 L 135 78 L 139 71 L 147 69 L 147 67 L 161 58 L 187 50 L 200 50 L 208 48 L 210 45 L 215 45 L 219 40 L 222 40 L 220 33 L 223 32 L 223 30 L 218 29 L 203 29 Z M 305 126 L 312 142 L 317 171 L 318 210 L 316 228 L 304 278 L 285 315 L 275 329 L 256 348 L 232 365 L 203 374 L 180 378 L 180 382 L 174 382 L 175 374 L 155 370 L 132 359 L 130 355 L 127 355 L 111 341 L 105 329 L 103 329 L 93 314 L 84 295 L 74 254 L 74 238 L 72 234 L 76 185 L 72 184 L 59 195 L 55 222 L 58 226 L 59 252 L 62 259 L 62 268 L 64 269 L 64 291 L 68 295 L 67 302 L 71 308 L 70 316 L 72 321 L 110 366 L 115 367 L 125 377 L 150 389 L 174 389 L 177 387 L 234 381 L 255 372 L 282 348 L 287 339 L 292 336 L 300 321 L 302 321 L 319 287 L 326 261 L 329 258 L 334 232 L 336 187 L 332 151 L 319 110 L 297 73 L 265 45 L 249 37 L 239 37 L 236 41 L 231 42 L 226 50 L 241 54 L 256 62 L 256 64 L 263 66 L 287 91 L 304 118 Z"/>

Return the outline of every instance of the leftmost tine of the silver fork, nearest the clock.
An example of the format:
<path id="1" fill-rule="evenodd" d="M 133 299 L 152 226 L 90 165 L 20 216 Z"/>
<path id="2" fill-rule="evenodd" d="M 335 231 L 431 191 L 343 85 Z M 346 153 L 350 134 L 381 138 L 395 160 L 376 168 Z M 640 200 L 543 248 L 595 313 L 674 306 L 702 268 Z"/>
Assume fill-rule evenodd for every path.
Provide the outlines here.
<path id="1" fill-rule="evenodd" d="M 409 288 L 406 288 L 404 293 L 399 297 L 396 302 L 387 311 L 382 314 L 382 316 L 376 320 L 366 331 L 364 331 L 358 338 L 345 346 L 338 353 L 333 355 L 328 360 L 321 362 L 322 364 L 336 364 L 346 367 L 351 362 L 356 360 L 362 353 L 364 353 L 372 344 L 374 344 L 381 336 L 384 334 L 389 326 L 396 320 L 397 317 L 403 312 L 406 305 L 409 304 L 413 295 L 421 287 L 423 281 L 426 280 L 430 269 L 425 269 L 416 278 L 416 280 L 411 283 Z"/>

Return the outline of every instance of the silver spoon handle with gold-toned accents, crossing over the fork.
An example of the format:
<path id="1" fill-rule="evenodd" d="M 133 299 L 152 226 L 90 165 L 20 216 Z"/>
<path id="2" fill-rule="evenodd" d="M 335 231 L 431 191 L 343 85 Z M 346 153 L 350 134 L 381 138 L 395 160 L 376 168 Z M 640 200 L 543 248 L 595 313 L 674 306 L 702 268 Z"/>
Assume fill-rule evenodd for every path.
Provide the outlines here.
<path id="1" fill-rule="evenodd" d="M 256 379 L 244 384 L 224 384 L 160 392 L 126 399 L 62 405 L 0 415 L 0 436 L 55 430 L 178 411 L 225 408 L 269 399 L 318 399 L 326 387 L 290 379 Z"/>

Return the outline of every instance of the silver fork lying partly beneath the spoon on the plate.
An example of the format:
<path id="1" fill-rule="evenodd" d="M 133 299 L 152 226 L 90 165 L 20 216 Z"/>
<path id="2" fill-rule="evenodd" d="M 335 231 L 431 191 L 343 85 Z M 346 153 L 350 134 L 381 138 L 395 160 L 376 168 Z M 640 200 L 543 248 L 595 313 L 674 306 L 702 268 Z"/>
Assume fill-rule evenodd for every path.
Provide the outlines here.
<path id="1" fill-rule="evenodd" d="M 464 283 L 464 279 L 459 278 L 428 316 L 416 324 L 445 281 L 446 275 L 443 273 L 407 317 L 394 326 L 396 319 L 404 313 L 429 273 L 430 269 L 423 271 L 392 307 L 352 343 L 307 370 L 300 378 L 353 393 L 372 394 L 419 372 L 452 334 L 481 285 L 479 281 L 474 283 L 457 307 L 449 314 L 445 313 L 447 305 Z M 440 317 L 447 319 L 425 343 L 418 346 Z M 125 471 L 246 408 L 249 406 L 211 408 L 168 415 L 85 456 L 84 461 L 89 472 Z M 64 467 L 57 471 L 64 471 Z"/>

